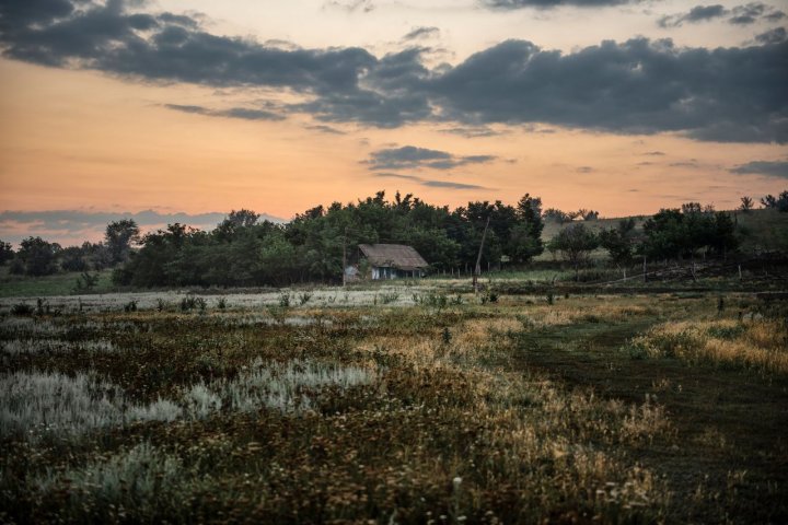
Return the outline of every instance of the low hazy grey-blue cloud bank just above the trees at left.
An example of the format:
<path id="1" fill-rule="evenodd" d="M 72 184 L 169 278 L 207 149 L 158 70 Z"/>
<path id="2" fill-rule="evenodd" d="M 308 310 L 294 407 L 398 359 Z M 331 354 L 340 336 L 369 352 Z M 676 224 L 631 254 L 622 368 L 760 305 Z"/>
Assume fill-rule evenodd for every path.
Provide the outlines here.
<path id="1" fill-rule="evenodd" d="M 0 238 L 19 243 L 31 235 L 42 236 L 61 244 L 77 244 L 84 240 L 99 241 L 106 225 L 113 221 L 134 219 L 143 230 L 163 228 L 179 222 L 200 230 L 212 230 L 227 213 L 162 213 L 144 210 L 136 213 L 112 211 L 53 210 L 53 211 L 1 211 Z M 285 222 L 282 219 L 263 214 L 262 220 Z"/>

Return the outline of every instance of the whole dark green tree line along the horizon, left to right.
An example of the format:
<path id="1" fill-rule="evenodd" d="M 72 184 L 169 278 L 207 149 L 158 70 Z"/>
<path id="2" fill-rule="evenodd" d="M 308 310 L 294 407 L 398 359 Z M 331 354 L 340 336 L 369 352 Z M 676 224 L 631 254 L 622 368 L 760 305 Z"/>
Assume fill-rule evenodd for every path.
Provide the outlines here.
<path id="1" fill-rule="evenodd" d="M 788 211 L 788 191 L 766 196 L 762 202 Z M 336 282 L 341 279 L 345 253 L 362 243 L 391 243 L 415 247 L 433 271 L 442 272 L 473 269 L 487 219 L 483 268 L 499 268 L 501 261 L 522 266 L 545 249 L 579 270 L 600 248 L 611 264 L 626 268 L 642 258 L 727 257 L 739 247 L 731 215 L 698 202 L 662 209 L 640 229 L 634 219 L 626 219 L 594 231 L 587 221 L 598 215 L 584 209 L 543 210 L 542 200 L 529 194 L 513 206 L 472 201 L 452 210 L 412 194 L 397 192 L 389 200 L 379 191 L 357 202 L 317 206 L 285 224 L 237 210 L 212 231 L 175 223 L 141 235 L 135 221 L 127 219 L 109 223 L 103 242 L 82 246 L 63 248 L 28 237 L 14 252 L 0 241 L 0 265 L 10 264 L 12 273 L 28 276 L 82 271 L 86 283 L 88 272 L 114 268 L 113 280 L 119 285 L 286 285 Z M 544 243 L 546 221 L 570 224 Z"/>

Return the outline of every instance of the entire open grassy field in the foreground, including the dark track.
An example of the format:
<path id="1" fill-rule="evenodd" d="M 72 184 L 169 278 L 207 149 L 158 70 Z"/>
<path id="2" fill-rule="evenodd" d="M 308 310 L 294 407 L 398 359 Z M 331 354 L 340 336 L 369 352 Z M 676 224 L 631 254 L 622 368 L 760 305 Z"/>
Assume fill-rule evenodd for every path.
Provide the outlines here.
<path id="1" fill-rule="evenodd" d="M 788 521 L 778 303 L 285 293 L 0 304 L 0 522 Z"/>

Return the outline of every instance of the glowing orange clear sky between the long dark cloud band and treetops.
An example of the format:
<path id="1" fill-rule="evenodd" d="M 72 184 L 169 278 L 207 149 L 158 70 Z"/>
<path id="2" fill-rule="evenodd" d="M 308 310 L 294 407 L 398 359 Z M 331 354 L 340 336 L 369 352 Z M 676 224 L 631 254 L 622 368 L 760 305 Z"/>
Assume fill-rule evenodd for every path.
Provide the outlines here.
<path id="1" fill-rule="evenodd" d="M 169 2 L 169 7 L 187 3 Z M 227 14 L 217 13 L 219 22 L 213 27 L 246 30 L 254 24 L 254 18 L 243 26 L 240 19 L 229 20 Z M 429 15 L 419 12 L 419 16 Z M 467 21 L 453 23 L 453 31 L 444 31 L 450 42 L 460 39 L 456 33 Z M 510 36 L 496 35 L 493 19 L 485 21 L 484 31 L 477 38 L 479 48 L 496 36 Z M 706 31 L 710 39 L 720 37 Z M 289 34 L 299 35 L 294 30 Z M 312 39 L 308 44 L 324 44 Z M 323 40 L 329 42 L 331 34 L 323 35 Z M 564 34 L 555 45 L 568 42 Z M 385 44 L 370 47 L 375 45 Z M 454 61 L 471 51 L 459 47 Z M 730 172 L 755 160 L 784 161 L 786 147 L 776 143 L 717 143 L 679 133 L 614 135 L 538 122 L 490 125 L 500 135 L 475 138 L 447 133 L 451 126 L 440 122 L 393 129 L 337 122 L 331 126 L 345 135 L 326 133 L 309 129 L 323 122 L 306 114 L 266 121 L 165 107 L 227 106 L 229 101 L 237 104 L 258 97 L 282 101 L 292 96 L 289 92 L 157 84 L 8 58 L 0 59 L 0 210 L 199 213 L 251 208 L 289 219 L 318 203 L 350 201 L 385 189 L 390 195 L 413 192 L 452 207 L 477 199 L 513 203 L 528 191 L 541 196 L 545 207 L 592 208 L 615 217 L 651 213 L 687 200 L 730 209 L 743 195 L 757 198 L 786 186 L 783 177 Z M 451 171 L 397 171 L 420 180 L 480 187 L 473 189 L 382 177 L 363 164 L 374 151 L 404 145 L 457 156 L 495 155 L 496 160 Z"/>

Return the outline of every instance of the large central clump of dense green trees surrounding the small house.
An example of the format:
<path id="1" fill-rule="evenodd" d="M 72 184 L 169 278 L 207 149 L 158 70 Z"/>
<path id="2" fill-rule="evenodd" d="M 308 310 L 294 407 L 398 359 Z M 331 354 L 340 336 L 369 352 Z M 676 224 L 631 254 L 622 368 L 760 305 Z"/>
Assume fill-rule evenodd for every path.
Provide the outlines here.
<path id="1" fill-rule="evenodd" d="M 378 242 L 410 245 L 439 270 L 457 268 L 475 264 L 488 218 L 483 264 L 497 266 L 505 254 L 525 262 L 543 249 L 541 206 L 526 194 L 517 208 L 484 201 L 450 211 L 410 194 L 387 201 L 379 191 L 357 203 L 312 208 L 288 224 L 232 211 L 211 232 L 171 224 L 147 234 L 113 279 L 136 287 L 336 282 L 345 250 L 354 256 L 358 244 Z"/>

